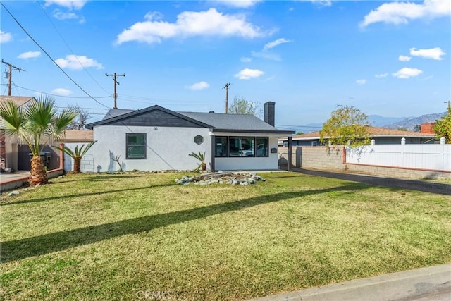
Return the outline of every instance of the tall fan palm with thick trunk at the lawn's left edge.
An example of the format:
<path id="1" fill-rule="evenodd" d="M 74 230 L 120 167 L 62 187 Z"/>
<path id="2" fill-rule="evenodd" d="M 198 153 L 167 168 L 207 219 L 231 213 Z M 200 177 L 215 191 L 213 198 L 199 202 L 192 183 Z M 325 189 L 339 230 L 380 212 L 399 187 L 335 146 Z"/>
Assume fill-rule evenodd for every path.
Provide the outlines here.
<path id="1" fill-rule="evenodd" d="M 6 135 L 17 135 L 25 142 L 32 154 L 30 185 L 46 184 L 47 173 L 42 164 L 41 152 L 52 138 L 59 139 L 65 134 L 66 126 L 73 121 L 73 109 L 63 109 L 58 113 L 53 97 L 41 96 L 29 106 L 18 107 L 10 100 L 0 106 L 0 128 Z"/>

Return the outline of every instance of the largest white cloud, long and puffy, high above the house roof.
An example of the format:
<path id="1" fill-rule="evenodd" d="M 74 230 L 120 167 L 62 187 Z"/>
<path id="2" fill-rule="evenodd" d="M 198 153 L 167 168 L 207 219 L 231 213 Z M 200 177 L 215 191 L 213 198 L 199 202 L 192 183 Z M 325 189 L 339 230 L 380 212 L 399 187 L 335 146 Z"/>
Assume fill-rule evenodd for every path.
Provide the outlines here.
<path id="1" fill-rule="evenodd" d="M 244 15 L 227 15 L 210 8 L 208 11 L 185 11 L 177 16 L 175 23 L 154 20 L 154 13 L 147 14 L 144 22 L 137 22 L 123 30 L 116 39 L 116 44 L 137 41 L 161 43 L 161 39 L 192 36 L 238 36 L 262 37 L 268 32 L 247 22 Z"/>

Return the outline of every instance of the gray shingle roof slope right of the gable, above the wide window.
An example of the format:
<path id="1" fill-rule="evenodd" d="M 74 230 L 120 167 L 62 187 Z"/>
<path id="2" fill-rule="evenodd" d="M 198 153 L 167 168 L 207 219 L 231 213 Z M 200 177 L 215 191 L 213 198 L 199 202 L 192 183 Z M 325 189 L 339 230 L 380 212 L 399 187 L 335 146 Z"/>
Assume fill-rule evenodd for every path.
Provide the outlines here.
<path id="1" fill-rule="evenodd" d="M 289 130 L 278 130 L 272 125 L 262 121 L 254 115 L 226 114 L 226 113 L 198 113 L 198 112 L 177 112 L 197 121 L 212 125 L 215 131 L 254 131 L 254 132 L 286 132 Z"/>

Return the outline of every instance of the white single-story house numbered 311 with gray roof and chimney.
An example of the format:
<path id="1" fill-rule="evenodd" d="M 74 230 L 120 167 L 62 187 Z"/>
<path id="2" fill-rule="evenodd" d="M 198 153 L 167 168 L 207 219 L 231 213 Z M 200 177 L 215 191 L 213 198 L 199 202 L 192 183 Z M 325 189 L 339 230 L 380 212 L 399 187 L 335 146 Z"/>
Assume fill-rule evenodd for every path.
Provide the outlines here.
<path id="1" fill-rule="evenodd" d="M 93 129 L 94 166 L 116 171 L 191 170 L 205 153 L 207 169 L 278 169 L 278 138 L 290 130 L 274 128 L 274 102 L 266 102 L 265 121 L 252 115 L 175 112 L 161 106 L 130 111 L 111 109 Z"/>

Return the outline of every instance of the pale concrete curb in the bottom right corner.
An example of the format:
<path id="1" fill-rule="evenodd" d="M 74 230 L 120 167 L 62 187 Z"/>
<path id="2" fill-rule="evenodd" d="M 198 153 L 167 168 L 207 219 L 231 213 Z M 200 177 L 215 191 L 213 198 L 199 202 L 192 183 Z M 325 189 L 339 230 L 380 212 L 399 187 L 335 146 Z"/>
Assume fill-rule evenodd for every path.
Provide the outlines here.
<path id="1" fill-rule="evenodd" d="M 449 293 L 449 295 L 448 295 Z M 416 300 L 441 294 L 451 300 L 451 264 L 400 271 L 381 276 L 333 283 L 292 293 L 271 295 L 255 301 L 381 301 Z M 449 299 L 447 298 L 449 296 Z M 431 297 L 431 300 L 435 300 Z"/>

